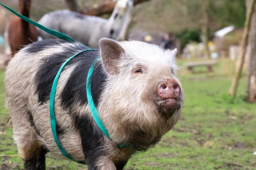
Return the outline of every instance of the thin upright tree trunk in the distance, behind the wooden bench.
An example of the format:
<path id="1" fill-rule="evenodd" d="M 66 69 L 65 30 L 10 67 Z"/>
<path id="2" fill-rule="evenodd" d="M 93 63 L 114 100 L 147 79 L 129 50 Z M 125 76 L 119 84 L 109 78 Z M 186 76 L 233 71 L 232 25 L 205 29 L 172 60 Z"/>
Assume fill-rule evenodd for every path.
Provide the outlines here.
<path id="1" fill-rule="evenodd" d="M 203 45 L 204 45 L 204 55 L 207 59 L 210 58 L 209 49 L 209 0 L 202 0 L 202 13 L 203 13 L 203 24 L 202 24 L 202 34 L 203 34 Z"/>

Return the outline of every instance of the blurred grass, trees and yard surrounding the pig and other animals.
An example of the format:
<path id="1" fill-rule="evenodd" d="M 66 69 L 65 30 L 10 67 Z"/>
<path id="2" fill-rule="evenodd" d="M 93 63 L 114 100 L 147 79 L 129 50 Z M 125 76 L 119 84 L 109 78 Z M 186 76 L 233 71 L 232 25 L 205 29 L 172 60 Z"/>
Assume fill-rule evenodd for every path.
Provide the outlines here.
<path id="1" fill-rule="evenodd" d="M 20 11 L 18 0 L 0 0 Z M 158 146 L 134 155 L 126 170 L 256 169 L 255 0 L 133 0 L 119 40 L 177 48 L 185 91 L 181 120 Z M 32 0 L 30 18 L 68 9 L 108 19 L 112 0 Z M 0 6 L 0 169 L 22 169 L 5 108 L 4 69 L 11 60 L 13 14 Z M 83 28 L 86 29 L 86 28 Z M 39 38 L 40 40 L 40 38 Z M 86 169 L 47 154 L 47 169 Z"/>

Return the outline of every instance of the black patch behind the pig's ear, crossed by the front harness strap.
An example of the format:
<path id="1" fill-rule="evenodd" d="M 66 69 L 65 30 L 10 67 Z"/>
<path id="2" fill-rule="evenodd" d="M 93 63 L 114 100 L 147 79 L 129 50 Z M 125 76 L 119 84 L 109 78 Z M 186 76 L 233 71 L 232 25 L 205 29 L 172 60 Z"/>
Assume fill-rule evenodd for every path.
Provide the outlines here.
<path id="1" fill-rule="evenodd" d="M 71 109 L 73 103 L 87 103 L 86 79 L 91 64 L 95 60 L 96 52 L 88 51 L 83 55 L 76 58 L 79 63 L 71 73 L 62 91 L 61 97 L 64 109 Z M 95 106 L 98 105 L 98 99 L 103 91 L 106 78 L 106 73 L 103 73 L 101 66 L 96 65 L 91 77 L 91 93 Z"/>

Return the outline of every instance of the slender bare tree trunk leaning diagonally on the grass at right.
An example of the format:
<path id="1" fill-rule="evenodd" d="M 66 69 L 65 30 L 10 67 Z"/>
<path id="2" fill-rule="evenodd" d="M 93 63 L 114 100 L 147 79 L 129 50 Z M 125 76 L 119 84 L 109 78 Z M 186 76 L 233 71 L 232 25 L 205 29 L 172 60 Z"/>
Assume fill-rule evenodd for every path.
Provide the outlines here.
<path id="1" fill-rule="evenodd" d="M 251 18 L 252 14 L 254 13 L 254 7 L 255 7 L 256 0 L 251 0 L 250 5 L 247 8 L 247 15 L 245 20 L 245 28 L 242 36 L 242 42 L 241 42 L 241 50 L 238 56 L 238 61 L 236 63 L 236 70 L 235 70 L 235 77 L 233 78 L 231 87 L 229 89 L 229 95 L 230 96 L 236 96 L 236 90 L 239 84 L 239 79 L 242 72 L 242 67 L 244 65 L 244 58 L 245 58 L 245 52 L 246 47 L 248 44 L 248 36 L 251 28 Z"/>

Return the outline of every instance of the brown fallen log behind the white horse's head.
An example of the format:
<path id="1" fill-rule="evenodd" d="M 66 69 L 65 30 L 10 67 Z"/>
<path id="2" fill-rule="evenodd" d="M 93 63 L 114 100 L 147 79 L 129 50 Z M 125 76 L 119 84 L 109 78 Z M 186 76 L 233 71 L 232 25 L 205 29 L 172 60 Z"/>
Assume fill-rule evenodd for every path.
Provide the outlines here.
<path id="1" fill-rule="evenodd" d="M 149 0 L 134 0 L 133 5 L 137 5 L 145 1 Z M 113 0 L 106 0 L 103 2 L 99 2 L 98 4 L 94 4 L 90 7 L 85 7 L 85 9 L 82 10 L 81 13 L 84 15 L 101 16 L 103 14 L 112 12 L 115 4 L 116 2 L 114 2 Z"/>

